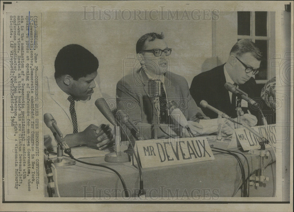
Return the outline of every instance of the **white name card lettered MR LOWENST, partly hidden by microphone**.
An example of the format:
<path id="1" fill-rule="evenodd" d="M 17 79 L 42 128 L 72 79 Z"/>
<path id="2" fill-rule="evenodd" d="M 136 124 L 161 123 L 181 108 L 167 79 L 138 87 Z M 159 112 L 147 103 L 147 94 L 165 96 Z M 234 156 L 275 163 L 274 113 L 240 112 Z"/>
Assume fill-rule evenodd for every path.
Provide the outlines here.
<path id="1" fill-rule="evenodd" d="M 268 139 L 269 144 L 265 145 L 266 148 L 269 146 L 275 148 L 275 144 L 277 142 L 275 125 L 255 126 L 252 127 L 252 129 L 258 132 L 261 137 Z M 228 149 L 237 148 L 240 145 L 242 146 L 244 151 L 258 149 L 260 148 L 259 142 L 260 139 L 252 132 L 245 128 L 238 128 L 235 129 L 235 132 L 233 133 L 232 140 L 228 146 Z"/>

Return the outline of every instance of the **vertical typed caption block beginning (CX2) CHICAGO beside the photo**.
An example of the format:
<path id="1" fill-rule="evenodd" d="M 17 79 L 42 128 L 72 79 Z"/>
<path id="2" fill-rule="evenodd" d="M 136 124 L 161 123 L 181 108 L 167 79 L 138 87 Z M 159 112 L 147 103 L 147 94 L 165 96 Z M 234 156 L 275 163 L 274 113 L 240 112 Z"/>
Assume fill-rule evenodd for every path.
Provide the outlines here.
<path id="1" fill-rule="evenodd" d="M 44 195 L 41 13 L 6 14 L 6 194 Z M 28 197 L 29 198 L 29 197 Z"/>

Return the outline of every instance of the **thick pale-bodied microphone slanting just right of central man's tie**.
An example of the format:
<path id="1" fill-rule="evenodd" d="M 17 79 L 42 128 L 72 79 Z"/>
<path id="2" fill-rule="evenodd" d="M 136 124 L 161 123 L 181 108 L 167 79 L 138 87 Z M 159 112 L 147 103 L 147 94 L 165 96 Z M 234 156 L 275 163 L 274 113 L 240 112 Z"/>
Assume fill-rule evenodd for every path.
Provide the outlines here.
<path id="1" fill-rule="evenodd" d="M 170 112 L 170 116 L 176 120 L 176 122 L 179 123 L 179 125 L 181 125 L 182 127 L 185 127 L 188 132 L 195 137 L 195 135 L 193 134 L 193 132 L 191 131 L 188 121 L 185 117 L 185 115 L 183 114 L 183 112 L 180 110 L 180 108 L 178 108 L 178 105 L 175 101 L 170 101 L 168 102 L 168 111 Z"/>

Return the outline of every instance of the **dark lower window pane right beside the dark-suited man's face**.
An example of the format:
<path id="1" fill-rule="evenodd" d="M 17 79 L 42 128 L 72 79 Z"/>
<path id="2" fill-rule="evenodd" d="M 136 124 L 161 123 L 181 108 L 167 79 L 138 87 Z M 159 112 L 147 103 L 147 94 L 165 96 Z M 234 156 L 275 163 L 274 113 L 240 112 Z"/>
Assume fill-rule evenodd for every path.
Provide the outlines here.
<path id="1" fill-rule="evenodd" d="M 259 73 L 255 75 L 255 80 L 267 80 L 268 70 L 268 41 L 267 40 L 255 40 L 255 44 L 262 53 L 262 59 L 260 62 Z"/>

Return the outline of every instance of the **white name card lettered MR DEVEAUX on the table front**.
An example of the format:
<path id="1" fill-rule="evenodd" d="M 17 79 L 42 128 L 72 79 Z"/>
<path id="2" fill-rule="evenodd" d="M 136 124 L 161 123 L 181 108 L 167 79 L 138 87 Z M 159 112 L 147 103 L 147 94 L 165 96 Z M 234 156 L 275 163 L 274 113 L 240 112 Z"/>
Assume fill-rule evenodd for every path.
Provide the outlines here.
<path id="1" fill-rule="evenodd" d="M 214 160 L 205 137 L 137 141 L 142 168 Z"/>

